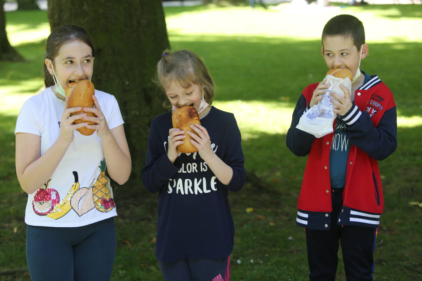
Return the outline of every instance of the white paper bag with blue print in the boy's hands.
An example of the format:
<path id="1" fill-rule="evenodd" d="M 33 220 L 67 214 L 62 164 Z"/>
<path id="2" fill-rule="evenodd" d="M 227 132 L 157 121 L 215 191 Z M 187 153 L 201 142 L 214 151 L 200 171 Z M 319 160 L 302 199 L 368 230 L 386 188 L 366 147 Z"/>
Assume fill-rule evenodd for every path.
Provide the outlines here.
<path id="1" fill-rule="evenodd" d="M 325 92 L 322 100 L 303 112 L 296 128 L 314 135 L 317 138 L 333 132 L 333 122 L 336 117 L 333 112 L 333 105 L 330 100 L 330 93 L 334 92 L 344 97 L 344 92 L 340 85 L 344 85 L 349 93 L 352 91 L 352 82 L 349 78 L 337 78 L 333 75 L 327 75 L 325 84 L 330 87 Z"/>

